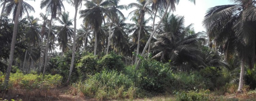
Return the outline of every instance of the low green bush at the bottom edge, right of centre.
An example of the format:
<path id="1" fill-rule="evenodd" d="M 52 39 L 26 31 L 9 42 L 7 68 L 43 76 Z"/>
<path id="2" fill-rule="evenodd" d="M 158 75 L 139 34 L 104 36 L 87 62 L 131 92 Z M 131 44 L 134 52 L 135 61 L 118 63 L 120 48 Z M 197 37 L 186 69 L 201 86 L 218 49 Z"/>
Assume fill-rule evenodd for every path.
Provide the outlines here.
<path id="1" fill-rule="evenodd" d="M 174 92 L 177 101 L 208 101 L 209 90 Z"/>

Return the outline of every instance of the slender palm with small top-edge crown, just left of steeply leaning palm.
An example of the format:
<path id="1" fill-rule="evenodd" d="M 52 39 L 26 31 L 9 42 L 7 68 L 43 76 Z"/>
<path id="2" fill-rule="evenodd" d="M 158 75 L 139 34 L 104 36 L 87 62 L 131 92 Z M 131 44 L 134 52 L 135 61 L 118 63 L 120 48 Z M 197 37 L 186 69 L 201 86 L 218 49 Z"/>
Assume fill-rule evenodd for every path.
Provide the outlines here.
<path id="1" fill-rule="evenodd" d="M 148 8 L 150 2 L 146 2 L 146 0 L 137 0 L 139 3 L 130 3 L 128 5 L 129 8 L 132 7 L 137 7 L 137 9 L 133 10 L 132 12 L 129 13 L 130 14 L 134 14 L 134 15 L 138 15 L 138 22 L 139 22 L 139 33 L 138 33 L 138 43 L 137 43 L 137 51 L 136 54 L 139 54 L 139 48 L 140 48 L 140 35 L 141 35 L 141 30 L 142 30 L 142 24 L 143 24 L 143 20 L 144 20 L 144 16 L 145 14 L 151 14 L 151 9 Z M 135 62 L 137 62 L 137 57 L 135 59 Z"/>

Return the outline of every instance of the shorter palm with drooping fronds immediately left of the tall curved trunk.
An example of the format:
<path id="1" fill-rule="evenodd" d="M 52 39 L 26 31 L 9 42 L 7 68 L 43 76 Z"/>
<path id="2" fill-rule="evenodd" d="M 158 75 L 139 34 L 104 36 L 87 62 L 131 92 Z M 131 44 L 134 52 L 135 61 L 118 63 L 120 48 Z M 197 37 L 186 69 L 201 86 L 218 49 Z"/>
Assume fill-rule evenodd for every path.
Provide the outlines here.
<path id="1" fill-rule="evenodd" d="M 60 17 L 61 19 L 57 18 L 57 21 L 61 26 L 54 26 L 53 29 L 57 30 L 58 45 L 62 49 L 62 53 L 64 53 L 68 50 L 68 42 L 73 37 L 73 29 L 70 28 L 73 25 L 73 19 L 69 18 L 69 12 L 63 12 Z"/>

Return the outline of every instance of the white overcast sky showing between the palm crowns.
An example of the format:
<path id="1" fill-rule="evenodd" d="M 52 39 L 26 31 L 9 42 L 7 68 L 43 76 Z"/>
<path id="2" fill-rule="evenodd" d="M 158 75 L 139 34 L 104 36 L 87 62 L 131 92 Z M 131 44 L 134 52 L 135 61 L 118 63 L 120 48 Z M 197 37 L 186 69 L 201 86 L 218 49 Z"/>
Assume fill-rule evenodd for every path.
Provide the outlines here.
<path id="1" fill-rule="evenodd" d="M 27 1 L 27 0 L 24 0 L 24 1 L 32 5 L 35 9 L 35 12 L 31 12 L 30 15 L 33 15 L 39 18 L 40 12 L 45 13 L 44 9 L 43 10 L 40 9 L 41 0 L 35 0 L 35 2 Z M 119 4 L 127 5 L 132 2 L 136 2 L 136 0 L 121 0 Z M 204 27 L 202 26 L 202 20 L 204 18 L 206 10 L 210 7 L 214 7 L 217 5 L 225 5 L 225 4 L 232 4 L 232 2 L 229 2 L 229 0 L 196 0 L 196 4 L 194 5 L 193 3 L 189 2 L 189 0 L 180 0 L 180 3 L 176 6 L 176 11 L 173 13 L 182 15 L 182 16 L 184 15 L 185 25 L 187 26 L 193 23 L 194 29 L 196 32 L 205 31 Z M 74 8 L 66 2 L 64 2 L 64 6 L 65 6 L 65 11 L 68 11 L 70 13 L 70 17 L 73 19 Z M 81 9 L 86 9 L 86 8 L 82 6 Z M 132 11 L 132 9 L 122 10 L 125 16 L 128 16 L 130 11 Z M 82 24 L 82 19 L 79 19 L 79 15 L 77 19 L 78 19 L 78 22 L 77 22 L 78 27 L 80 27 L 80 25 Z M 127 22 L 132 23 L 129 20 L 130 19 L 127 19 Z"/>

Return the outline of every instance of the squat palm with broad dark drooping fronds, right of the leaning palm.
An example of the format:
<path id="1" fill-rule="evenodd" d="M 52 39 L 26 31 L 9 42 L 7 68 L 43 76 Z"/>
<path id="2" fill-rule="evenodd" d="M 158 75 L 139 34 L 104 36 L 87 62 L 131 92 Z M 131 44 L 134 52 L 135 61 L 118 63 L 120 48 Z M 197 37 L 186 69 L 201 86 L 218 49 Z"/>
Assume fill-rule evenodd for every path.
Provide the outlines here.
<path id="1" fill-rule="evenodd" d="M 199 49 L 199 40 L 204 39 L 197 38 L 200 33 L 189 33 L 191 25 L 184 26 L 184 16 L 167 13 L 160 28 L 163 33 L 159 34 L 157 41 L 152 43 L 154 59 L 162 62 L 171 61 L 173 65 L 180 67 L 179 70 L 206 66 Z M 183 66 L 184 63 L 187 66 Z"/>

